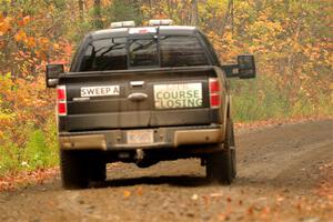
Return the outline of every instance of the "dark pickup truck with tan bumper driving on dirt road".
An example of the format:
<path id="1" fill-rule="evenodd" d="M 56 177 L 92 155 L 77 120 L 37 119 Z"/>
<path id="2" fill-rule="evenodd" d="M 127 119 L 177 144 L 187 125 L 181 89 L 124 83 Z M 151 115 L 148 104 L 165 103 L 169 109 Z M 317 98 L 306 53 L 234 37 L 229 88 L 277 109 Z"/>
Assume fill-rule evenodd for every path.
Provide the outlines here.
<path id="1" fill-rule="evenodd" d="M 186 158 L 201 159 L 209 181 L 230 184 L 236 168 L 226 78 L 235 77 L 255 77 L 254 57 L 221 64 L 195 27 L 88 33 L 68 72 L 47 65 L 47 87 L 57 88 L 62 186 L 105 180 L 107 163 L 148 168 Z"/>

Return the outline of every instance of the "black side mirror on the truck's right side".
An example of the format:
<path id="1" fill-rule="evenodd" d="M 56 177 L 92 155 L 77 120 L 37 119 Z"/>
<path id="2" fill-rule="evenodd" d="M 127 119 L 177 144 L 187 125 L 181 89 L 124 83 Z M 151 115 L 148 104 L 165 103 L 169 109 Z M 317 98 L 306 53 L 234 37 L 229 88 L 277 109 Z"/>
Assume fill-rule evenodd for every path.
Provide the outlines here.
<path id="1" fill-rule="evenodd" d="M 255 78 L 256 71 L 253 54 L 241 54 L 238 57 L 238 62 L 240 79 Z"/>

